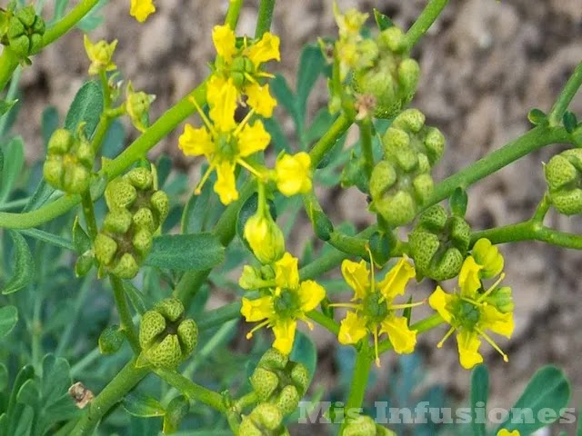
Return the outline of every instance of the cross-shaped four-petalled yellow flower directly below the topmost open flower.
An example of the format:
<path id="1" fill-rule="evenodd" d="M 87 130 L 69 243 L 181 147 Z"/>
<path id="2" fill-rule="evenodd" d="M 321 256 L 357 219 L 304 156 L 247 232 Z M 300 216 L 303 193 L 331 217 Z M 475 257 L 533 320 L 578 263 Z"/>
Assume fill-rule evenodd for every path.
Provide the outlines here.
<path id="1" fill-rule="evenodd" d="M 236 124 L 236 87 L 232 79 L 228 79 L 220 88 L 209 84 L 207 100 L 210 105 L 210 119 L 194 101 L 205 127 L 196 129 L 186 124 L 178 144 L 184 154 L 205 155 L 210 163 L 195 192 L 200 193 L 210 173 L 216 170 L 217 180 L 214 190 L 220 196 L 220 201 L 228 204 L 238 199 L 236 165 L 241 165 L 260 176 L 261 174 L 257 173 L 245 158 L 265 150 L 271 136 L 260 121 L 249 124 L 254 111 L 249 112 L 240 124 Z"/>

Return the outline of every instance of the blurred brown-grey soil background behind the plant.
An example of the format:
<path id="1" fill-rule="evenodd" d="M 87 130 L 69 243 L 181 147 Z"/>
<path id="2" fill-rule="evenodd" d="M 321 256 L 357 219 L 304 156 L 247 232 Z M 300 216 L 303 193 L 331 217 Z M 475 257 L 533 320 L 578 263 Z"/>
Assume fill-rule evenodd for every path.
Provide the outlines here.
<path id="1" fill-rule="evenodd" d="M 47 2 L 50 4 L 51 2 Z M 405 29 L 426 4 L 421 0 L 342 1 L 340 9 L 356 6 L 380 12 Z M 156 94 L 152 119 L 176 102 L 207 73 L 206 63 L 214 56 L 211 29 L 223 20 L 226 1 L 160 0 L 158 11 L 144 25 L 129 15 L 129 0 L 105 6 L 105 24 L 90 36 L 117 38 L 115 60 L 137 89 Z M 256 1 L 247 1 L 238 33 L 253 34 Z M 335 36 L 331 1 L 277 2 L 273 31 L 281 36 L 281 63 L 272 65 L 291 79 L 296 74 L 302 45 L 318 36 Z M 419 90 L 412 105 L 426 114 L 427 124 L 436 125 L 447 137 L 447 152 L 437 167 L 441 180 L 457 169 L 506 144 L 528 129 L 527 112 L 533 107 L 549 110 L 574 66 L 582 59 L 582 3 L 580 0 L 451 0 L 444 14 L 415 49 L 422 69 Z M 38 130 L 42 110 L 55 104 L 65 113 L 75 92 L 86 79 L 81 32 L 35 56 L 22 78 L 25 104 L 17 130 L 25 136 L 29 158 L 41 149 Z M 291 81 L 295 83 L 295 81 Z M 322 81 L 310 102 L 315 110 L 326 104 Z M 582 98 L 571 110 L 582 116 Z M 280 115 L 282 113 L 277 113 Z M 290 130 L 290 129 L 289 129 Z M 158 147 L 176 156 L 183 168 L 196 168 L 176 147 L 178 132 Z M 527 219 L 540 200 L 545 183 L 542 162 L 559 146 L 527 156 L 493 177 L 472 186 L 467 218 L 475 229 L 484 229 Z M 195 182 L 195 171 L 192 174 Z M 197 174 L 197 173 L 196 173 Z M 356 190 L 321 192 L 326 211 L 336 223 L 349 220 L 371 223 L 366 199 Z M 551 212 L 547 224 L 560 230 L 581 233 L 582 219 Z M 582 253 L 542 243 L 502 246 L 506 255 L 506 282 L 514 290 L 516 333 L 508 343 L 500 342 L 510 360 L 504 363 L 487 344 L 483 349 L 492 372 L 491 404 L 510 406 L 525 381 L 547 362 L 562 366 L 573 382 L 574 404 L 582 401 Z M 428 284 L 418 289 L 424 298 Z M 444 328 L 423 337 L 419 350 L 430 368 L 427 381 L 443 383 L 452 398 L 467 394 L 469 372 L 457 361 L 454 341 L 443 350 L 435 344 Z M 333 383 L 334 341 L 326 332 L 316 332 L 320 347 L 321 383 Z M 326 362 L 328 366 L 326 367 Z M 388 357 L 387 368 L 394 362 Z M 326 368 L 328 371 L 326 371 Z M 382 389 L 378 379 L 377 389 Z"/>

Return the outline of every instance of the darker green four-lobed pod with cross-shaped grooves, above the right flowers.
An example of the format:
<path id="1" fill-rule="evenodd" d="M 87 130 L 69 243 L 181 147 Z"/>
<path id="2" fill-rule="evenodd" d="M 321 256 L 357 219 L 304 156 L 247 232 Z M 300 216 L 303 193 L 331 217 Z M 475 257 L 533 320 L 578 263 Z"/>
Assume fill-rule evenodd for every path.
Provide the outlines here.
<path id="1" fill-rule="evenodd" d="M 457 216 L 447 216 L 436 204 L 423 213 L 408 235 L 416 272 L 441 281 L 455 277 L 467 255 L 471 229 Z"/>

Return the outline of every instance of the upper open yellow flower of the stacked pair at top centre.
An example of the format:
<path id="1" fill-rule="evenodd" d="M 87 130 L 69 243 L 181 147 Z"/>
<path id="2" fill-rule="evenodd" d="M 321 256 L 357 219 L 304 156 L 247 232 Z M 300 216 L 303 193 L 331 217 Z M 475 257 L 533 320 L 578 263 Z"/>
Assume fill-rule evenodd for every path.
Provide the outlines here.
<path id="1" fill-rule="evenodd" d="M 252 107 L 256 114 L 270 117 L 276 106 L 276 100 L 271 96 L 268 85 L 261 85 L 259 82 L 263 78 L 273 77 L 273 74 L 261 70 L 263 64 L 281 59 L 278 36 L 266 32 L 256 43 L 248 45 L 245 38 L 243 45 L 237 47 L 236 35 L 230 26 L 216 25 L 212 31 L 212 40 L 218 54 L 213 85 L 221 87 L 232 79 L 238 100 L 242 103 L 240 96 L 245 94 L 246 104 Z"/>

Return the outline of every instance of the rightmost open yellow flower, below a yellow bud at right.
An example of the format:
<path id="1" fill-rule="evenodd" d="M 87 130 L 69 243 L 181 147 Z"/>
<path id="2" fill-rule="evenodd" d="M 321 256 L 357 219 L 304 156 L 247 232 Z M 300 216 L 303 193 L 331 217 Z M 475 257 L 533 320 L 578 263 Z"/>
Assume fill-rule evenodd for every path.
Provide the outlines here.
<path id="1" fill-rule="evenodd" d="M 504 274 L 484 291 L 481 281 L 475 279 L 481 268 L 472 256 L 468 256 L 459 273 L 460 292 L 450 294 L 437 286 L 428 299 L 430 306 L 451 325 L 437 347 L 442 347 L 447 338 L 457 331 L 459 360 L 465 369 L 471 369 L 477 363 L 483 362 L 483 356 L 479 353 L 480 338 L 485 339 L 507 362 L 507 354 L 501 351 L 486 330 L 510 338 L 514 328 L 513 312 L 501 312 L 495 304 L 487 302 L 487 297 L 497 290 Z"/>

